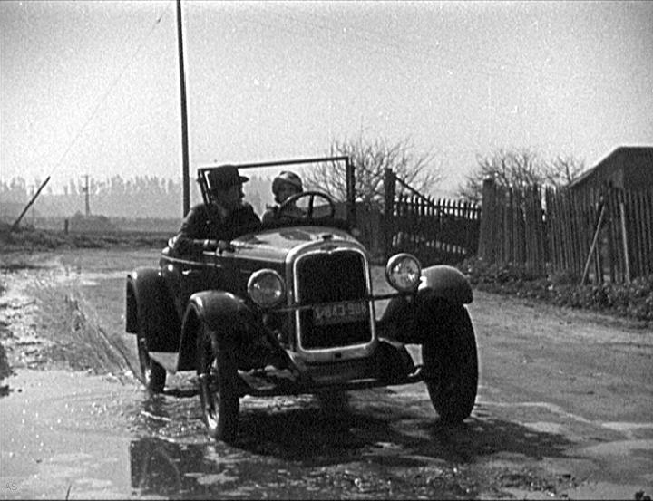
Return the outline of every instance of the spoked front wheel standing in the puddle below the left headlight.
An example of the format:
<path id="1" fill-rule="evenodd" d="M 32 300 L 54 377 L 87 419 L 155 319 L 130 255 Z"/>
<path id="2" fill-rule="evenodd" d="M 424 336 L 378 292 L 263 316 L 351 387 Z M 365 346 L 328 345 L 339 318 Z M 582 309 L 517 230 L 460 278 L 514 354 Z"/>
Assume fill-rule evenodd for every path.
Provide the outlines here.
<path id="1" fill-rule="evenodd" d="M 214 349 L 214 334 L 206 327 L 198 335 L 200 403 L 209 435 L 233 443 L 238 432 L 238 370 L 228 350 Z"/>

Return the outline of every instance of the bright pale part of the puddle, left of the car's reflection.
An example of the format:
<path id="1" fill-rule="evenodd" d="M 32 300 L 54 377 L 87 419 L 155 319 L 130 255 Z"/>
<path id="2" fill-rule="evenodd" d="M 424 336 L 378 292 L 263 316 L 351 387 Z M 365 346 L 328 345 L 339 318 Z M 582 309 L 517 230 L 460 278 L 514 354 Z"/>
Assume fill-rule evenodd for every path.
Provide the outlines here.
<path id="1" fill-rule="evenodd" d="M 2 485 L 15 496 L 131 495 L 122 407 L 141 390 L 80 372 L 17 371 L 0 401 Z"/>

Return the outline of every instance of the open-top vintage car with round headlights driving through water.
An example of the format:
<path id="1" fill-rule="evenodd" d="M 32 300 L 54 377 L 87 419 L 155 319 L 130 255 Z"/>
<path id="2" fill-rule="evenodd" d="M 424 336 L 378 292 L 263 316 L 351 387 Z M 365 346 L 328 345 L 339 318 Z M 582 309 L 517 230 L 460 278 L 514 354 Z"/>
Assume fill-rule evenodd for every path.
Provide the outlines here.
<path id="1" fill-rule="evenodd" d="M 142 381 L 162 392 L 167 372 L 195 371 L 210 436 L 233 442 L 245 395 L 344 392 L 424 381 L 444 422 L 472 412 L 478 382 L 472 289 L 456 268 L 424 269 L 391 256 L 392 293 L 375 294 L 370 255 L 356 235 L 355 171 L 346 157 L 238 165 L 343 166 L 347 198 L 307 191 L 277 220 L 210 242 L 200 255 L 163 249 L 159 265 L 132 271 L 126 331 L 136 335 Z M 199 169 L 208 201 L 210 169 Z M 276 173 L 276 172 L 275 172 Z M 288 204 L 300 216 L 283 217 Z M 385 312 L 376 318 L 376 306 Z M 407 350 L 406 344 L 421 345 Z M 420 359 L 421 360 L 418 360 Z"/>

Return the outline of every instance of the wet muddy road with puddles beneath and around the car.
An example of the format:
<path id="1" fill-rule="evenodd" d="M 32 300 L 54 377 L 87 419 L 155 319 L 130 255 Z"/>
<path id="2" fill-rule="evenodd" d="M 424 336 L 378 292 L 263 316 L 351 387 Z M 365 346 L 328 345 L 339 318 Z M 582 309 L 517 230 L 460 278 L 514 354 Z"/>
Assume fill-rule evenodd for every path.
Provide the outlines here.
<path id="1" fill-rule="evenodd" d="M 653 332 L 475 293 L 479 395 L 439 423 L 423 384 L 241 400 L 210 441 L 187 375 L 141 388 L 124 276 L 158 251 L 0 255 L 0 489 L 15 498 L 646 499 Z"/>

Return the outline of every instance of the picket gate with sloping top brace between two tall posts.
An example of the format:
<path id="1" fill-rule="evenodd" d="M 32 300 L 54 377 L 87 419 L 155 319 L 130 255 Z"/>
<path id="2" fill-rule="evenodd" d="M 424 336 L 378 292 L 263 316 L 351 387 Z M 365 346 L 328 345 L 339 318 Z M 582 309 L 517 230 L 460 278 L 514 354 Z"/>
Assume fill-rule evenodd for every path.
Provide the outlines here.
<path id="1" fill-rule="evenodd" d="M 385 255 L 407 252 L 422 265 L 454 265 L 478 249 L 481 209 L 429 198 L 385 170 Z"/>

